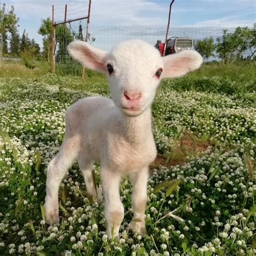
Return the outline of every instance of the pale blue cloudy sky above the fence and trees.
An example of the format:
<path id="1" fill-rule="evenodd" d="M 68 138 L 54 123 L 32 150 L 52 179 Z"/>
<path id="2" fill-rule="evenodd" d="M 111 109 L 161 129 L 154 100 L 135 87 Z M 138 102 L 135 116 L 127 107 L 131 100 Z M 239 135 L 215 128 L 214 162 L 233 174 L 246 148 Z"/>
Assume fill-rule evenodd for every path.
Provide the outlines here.
<path id="1" fill-rule="evenodd" d="M 64 18 L 68 4 L 68 19 L 87 12 L 87 1 L 82 0 L 0 0 L 6 8 L 15 7 L 19 17 L 19 33 L 26 29 L 29 38 L 42 45 L 37 31 L 42 19 L 52 16 L 55 5 L 57 20 Z M 167 0 L 92 0 L 90 26 L 167 25 Z M 171 26 L 237 27 L 252 26 L 256 22 L 256 0 L 175 0 L 172 5 Z"/>

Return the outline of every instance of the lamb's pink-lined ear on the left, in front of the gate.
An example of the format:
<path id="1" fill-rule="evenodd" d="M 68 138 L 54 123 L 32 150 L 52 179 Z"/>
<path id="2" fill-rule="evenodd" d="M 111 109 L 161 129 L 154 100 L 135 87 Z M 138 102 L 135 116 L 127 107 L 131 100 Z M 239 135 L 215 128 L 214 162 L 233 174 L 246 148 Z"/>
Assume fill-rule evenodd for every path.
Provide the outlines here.
<path id="1" fill-rule="evenodd" d="M 106 51 L 100 50 L 83 41 L 74 41 L 67 47 L 69 55 L 88 69 L 107 71 Z"/>

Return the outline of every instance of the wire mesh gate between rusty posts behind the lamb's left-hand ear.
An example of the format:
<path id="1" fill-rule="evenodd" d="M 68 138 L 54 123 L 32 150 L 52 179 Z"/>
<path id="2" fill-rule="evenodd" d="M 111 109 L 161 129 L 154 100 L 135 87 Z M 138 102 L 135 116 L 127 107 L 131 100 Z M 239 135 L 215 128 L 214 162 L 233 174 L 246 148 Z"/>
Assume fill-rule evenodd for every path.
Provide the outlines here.
<path id="1" fill-rule="evenodd" d="M 62 75 L 80 76 L 83 67 L 68 54 L 67 46 L 75 40 L 87 41 L 90 22 L 91 0 L 65 5 L 52 6 L 52 71 Z"/>

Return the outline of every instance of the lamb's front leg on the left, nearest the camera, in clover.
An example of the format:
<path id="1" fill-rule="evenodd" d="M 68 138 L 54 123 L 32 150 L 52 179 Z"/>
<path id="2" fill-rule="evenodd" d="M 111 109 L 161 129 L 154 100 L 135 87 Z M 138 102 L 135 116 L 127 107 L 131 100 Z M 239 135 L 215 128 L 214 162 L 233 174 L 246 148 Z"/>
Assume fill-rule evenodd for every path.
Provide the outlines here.
<path id="1" fill-rule="evenodd" d="M 107 221 L 107 237 L 118 238 L 119 228 L 124 218 L 124 206 L 120 200 L 119 186 L 121 174 L 102 169 L 100 178 L 104 193 L 104 212 Z"/>

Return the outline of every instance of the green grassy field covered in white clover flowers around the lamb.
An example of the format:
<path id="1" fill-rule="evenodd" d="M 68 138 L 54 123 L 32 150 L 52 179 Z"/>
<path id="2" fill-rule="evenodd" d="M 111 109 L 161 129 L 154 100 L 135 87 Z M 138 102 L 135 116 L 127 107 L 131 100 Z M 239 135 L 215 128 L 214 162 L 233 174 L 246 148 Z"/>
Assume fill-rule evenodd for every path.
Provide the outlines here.
<path id="1" fill-rule="evenodd" d="M 147 235 L 130 231 L 131 185 L 124 180 L 119 241 L 107 241 L 103 204 L 86 198 L 77 164 L 60 186 L 60 224 L 46 225 L 42 208 L 65 110 L 83 97 L 109 97 L 105 77 L 11 65 L 0 70 L 0 255 L 255 255 L 253 65 L 207 64 L 162 82 L 152 106 L 158 157 L 148 184 Z"/>

